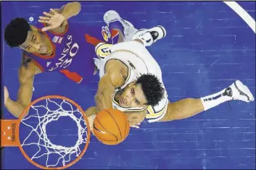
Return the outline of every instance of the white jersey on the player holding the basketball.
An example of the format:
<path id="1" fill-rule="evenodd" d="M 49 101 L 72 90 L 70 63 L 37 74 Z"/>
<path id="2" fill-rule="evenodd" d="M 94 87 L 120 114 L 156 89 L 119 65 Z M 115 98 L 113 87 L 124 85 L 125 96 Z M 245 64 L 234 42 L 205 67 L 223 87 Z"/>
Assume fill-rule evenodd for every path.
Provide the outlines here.
<path id="1" fill-rule="evenodd" d="M 104 46 L 104 45 L 103 45 Z M 165 90 L 165 96 L 157 104 L 157 106 L 146 106 L 146 107 L 122 107 L 115 101 L 115 95 L 118 90 L 125 88 L 133 80 L 137 80 L 141 75 L 151 73 L 156 75 L 160 82 L 162 82 L 162 72 L 157 61 L 154 60 L 153 56 L 149 54 L 143 44 L 137 41 L 128 41 L 123 43 L 117 43 L 113 46 L 107 45 L 107 48 L 99 50 L 99 46 L 96 47 L 96 51 L 106 51 L 107 55 L 102 56 L 102 54 L 96 53 L 101 59 L 96 61 L 96 65 L 99 69 L 99 77 L 105 74 L 105 64 L 110 59 L 117 59 L 122 61 L 128 67 L 128 77 L 125 80 L 124 85 L 121 88 L 115 89 L 115 93 L 112 95 L 112 105 L 113 108 L 125 112 L 136 112 L 144 111 L 147 109 L 146 119 L 148 122 L 157 122 L 165 116 L 168 107 L 168 95 Z M 165 88 L 162 82 L 163 88 Z"/>

